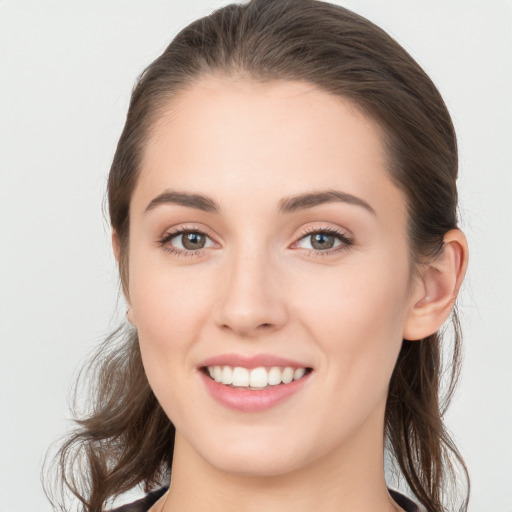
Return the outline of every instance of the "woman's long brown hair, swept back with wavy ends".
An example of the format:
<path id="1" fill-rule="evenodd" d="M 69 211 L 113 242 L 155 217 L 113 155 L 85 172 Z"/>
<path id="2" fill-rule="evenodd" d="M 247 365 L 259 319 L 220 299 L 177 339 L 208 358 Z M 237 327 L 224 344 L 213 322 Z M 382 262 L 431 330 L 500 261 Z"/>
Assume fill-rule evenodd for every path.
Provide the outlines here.
<path id="1" fill-rule="evenodd" d="M 252 0 L 223 7 L 183 29 L 133 91 L 108 181 L 125 291 L 130 199 L 149 130 L 177 92 L 214 73 L 307 81 L 351 100 L 385 134 L 390 175 L 407 198 L 412 261 L 442 249 L 443 235 L 457 225 L 457 145 L 432 81 L 388 34 L 347 9 L 315 0 Z M 460 367 L 456 311 L 452 320 L 444 396 L 441 334 L 404 340 L 385 416 L 397 467 L 431 512 L 446 510 L 454 464 L 468 486 L 461 510 L 469 496 L 466 467 L 443 424 Z M 98 512 L 112 497 L 138 484 L 148 490 L 168 477 L 174 427 L 146 380 L 136 332 L 116 331 L 90 369 L 92 407 L 77 420 L 57 461 L 63 487 L 81 500 L 83 510 Z"/>

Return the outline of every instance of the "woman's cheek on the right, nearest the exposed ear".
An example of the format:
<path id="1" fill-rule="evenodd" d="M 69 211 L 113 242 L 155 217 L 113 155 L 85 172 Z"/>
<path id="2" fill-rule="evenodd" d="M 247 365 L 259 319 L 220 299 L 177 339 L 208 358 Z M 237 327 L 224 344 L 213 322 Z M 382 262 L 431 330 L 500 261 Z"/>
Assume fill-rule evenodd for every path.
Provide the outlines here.
<path id="1" fill-rule="evenodd" d="M 405 263 L 407 260 L 405 259 Z M 407 264 L 340 268 L 295 290 L 297 317 L 321 346 L 332 385 L 375 383 L 385 392 L 402 344 L 408 306 Z M 300 306 L 299 306 L 300 304 Z"/>

